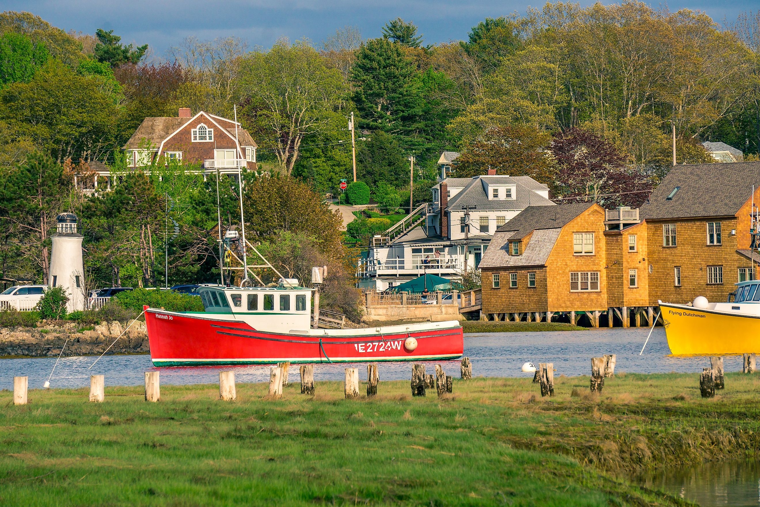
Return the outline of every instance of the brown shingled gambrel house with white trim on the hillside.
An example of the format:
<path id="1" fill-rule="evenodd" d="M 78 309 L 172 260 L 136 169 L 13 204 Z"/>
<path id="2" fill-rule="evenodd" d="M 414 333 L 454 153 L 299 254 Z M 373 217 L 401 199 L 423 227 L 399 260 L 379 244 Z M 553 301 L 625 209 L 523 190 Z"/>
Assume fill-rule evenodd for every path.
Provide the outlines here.
<path id="1" fill-rule="evenodd" d="M 238 122 L 209 112 L 193 115 L 188 108 L 179 116 L 146 118 L 124 145 L 128 166 L 147 166 L 157 157 L 198 163 L 204 172 L 237 173 L 256 168 L 257 145 Z"/>

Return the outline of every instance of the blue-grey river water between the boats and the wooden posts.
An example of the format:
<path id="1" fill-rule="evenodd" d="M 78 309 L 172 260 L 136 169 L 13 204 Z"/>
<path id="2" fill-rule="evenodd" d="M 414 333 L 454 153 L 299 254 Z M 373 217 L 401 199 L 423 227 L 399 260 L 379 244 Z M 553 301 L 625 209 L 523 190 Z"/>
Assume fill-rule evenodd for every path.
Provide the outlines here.
<path id="1" fill-rule="evenodd" d="M 464 355 L 473 363 L 473 375 L 494 377 L 530 376 L 521 372 L 523 363 L 554 363 L 555 375 L 588 375 L 591 357 L 605 353 L 617 354 L 616 371 L 701 372 L 710 366 L 708 358 L 670 357 L 665 331 L 656 328 L 639 356 L 647 337 L 648 328 L 603 328 L 589 331 L 552 331 L 528 333 L 467 334 L 464 337 Z M 57 388 L 90 385 L 90 375 L 106 375 L 106 385 L 142 385 L 143 372 L 159 369 L 162 384 L 211 384 L 219 382 L 219 372 L 234 369 L 238 382 L 268 382 L 269 366 L 201 366 L 154 368 L 150 356 L 103 356 L 87 369 L 95 356 L 65 357 L 55 368 L 51 385 Z M 0 360 L 0 389 L 13 388 L 13 377 L 27 375 L 30 388 L 41 388 L 50 374 L 55 358 Z M 432 364 L 428 369 L 432 368 Z M 443 368 L 449 375 L 459 375 L 458 361 L 445 361 Z M 348 363 L 321 364 L 315 367 L 315 380 L 342 380 Z M 362 365 L 358 365 L 362 367 Z M 727 372 L 740 371 L 741 356 L 724 359 Z M 382 363 L 380 378 L 400 380 L 410 378 L 409 363 Z M 290 378 L 297 378 L 298 366 L 291 366 Z M 362 374 L 363 377 L 364 374 Z"/>

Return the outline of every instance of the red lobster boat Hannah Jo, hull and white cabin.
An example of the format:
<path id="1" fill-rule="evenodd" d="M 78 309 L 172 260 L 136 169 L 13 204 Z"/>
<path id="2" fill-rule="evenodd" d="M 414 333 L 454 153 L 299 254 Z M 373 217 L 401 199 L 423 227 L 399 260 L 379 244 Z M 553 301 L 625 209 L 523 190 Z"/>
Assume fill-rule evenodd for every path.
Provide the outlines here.
<path id="1" fill-rule="evenodd" d="M 205 312 L 145 308 L 155 366 L 448 360 L 461 357 L 458 321 L 312 329 L 305 287 L 201 287 Z"/>

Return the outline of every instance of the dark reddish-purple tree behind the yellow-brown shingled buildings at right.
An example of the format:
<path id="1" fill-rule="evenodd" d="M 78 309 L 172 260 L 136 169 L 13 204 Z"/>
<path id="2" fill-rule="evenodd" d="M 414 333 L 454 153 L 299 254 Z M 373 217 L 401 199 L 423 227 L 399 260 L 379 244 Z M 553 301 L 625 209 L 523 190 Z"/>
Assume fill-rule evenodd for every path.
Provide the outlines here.
<path id="1" fill-rule="evenodd" d="M 591 132 L 581 128 L 560 132 L 550 150 L 557 165 L 557 197 L 597 202 L 606 208 L 638 206 L 649 197 L 649 179 L 625 166 L 616 147 Z"/>

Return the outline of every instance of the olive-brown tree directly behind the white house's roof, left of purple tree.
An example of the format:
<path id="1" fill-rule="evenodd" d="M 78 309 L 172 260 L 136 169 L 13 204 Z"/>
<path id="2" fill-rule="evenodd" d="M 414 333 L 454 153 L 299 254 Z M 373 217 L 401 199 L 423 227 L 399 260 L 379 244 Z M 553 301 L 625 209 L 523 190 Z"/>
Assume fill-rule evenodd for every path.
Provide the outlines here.
<path id="1" fill-rule="evenodd" d="M 548 132 L 532 125 L 491 128 L 464 145 L 454 176 L 469 178 L 494 169 L 496 174 L 530 176 L 550 185 L 554 181 L 554 160 L 548 151 L 550 141 Z"/>

